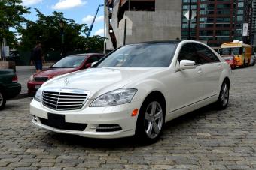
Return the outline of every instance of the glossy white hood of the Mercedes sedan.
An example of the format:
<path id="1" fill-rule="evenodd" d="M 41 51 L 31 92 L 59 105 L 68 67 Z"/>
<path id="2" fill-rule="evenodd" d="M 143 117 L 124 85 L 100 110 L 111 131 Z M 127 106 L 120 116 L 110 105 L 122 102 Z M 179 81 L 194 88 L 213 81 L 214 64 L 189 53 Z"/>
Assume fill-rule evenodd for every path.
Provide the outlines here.
<path id="1" fill-rule="evenodd" d="M 91 68 L 51 79 L 44 83 L 42 90 L 44 91 L 45 88 L 83 89 L 90 91 L 90 98 L 95 98 L 108 91 L 123 88 L 130 82 L 139 82 L 159 71 L 159 68 Z M 67 84 L 65 79 L 66 82 L 68 80 Z"/>

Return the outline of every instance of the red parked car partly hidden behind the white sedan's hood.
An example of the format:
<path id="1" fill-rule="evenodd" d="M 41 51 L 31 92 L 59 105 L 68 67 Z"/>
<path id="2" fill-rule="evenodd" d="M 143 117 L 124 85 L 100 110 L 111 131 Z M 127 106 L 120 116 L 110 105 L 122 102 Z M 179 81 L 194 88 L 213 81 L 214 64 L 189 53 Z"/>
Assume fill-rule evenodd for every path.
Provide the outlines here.
<path id="1" fill-rule="evenodd" d="M 44 82 L 46 82 L 48 79 L 52 79 L 55 76 L 72 73 L 91 67 L 93 62 L 99 61 L 99 59 L 104 56 L 104 54 L 87 53 L 69 55 L 65 58 L 62 58 L 48 69 L 32 75 L 27 83 L 29 89 L 28 92 L 29 94 L 35 93 L 35 91 L 37 91 Z"/>

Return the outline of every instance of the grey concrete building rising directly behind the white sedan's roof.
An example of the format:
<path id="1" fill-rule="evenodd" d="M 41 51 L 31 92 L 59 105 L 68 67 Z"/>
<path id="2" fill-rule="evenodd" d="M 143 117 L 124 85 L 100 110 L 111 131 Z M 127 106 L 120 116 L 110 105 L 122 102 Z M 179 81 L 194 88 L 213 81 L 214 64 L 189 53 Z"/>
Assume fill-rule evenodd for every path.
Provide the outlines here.
<path id="1" fill-rule="evenodd" d="M 181 38 L 181 0 L 108 0 L 107 49 Z"/>

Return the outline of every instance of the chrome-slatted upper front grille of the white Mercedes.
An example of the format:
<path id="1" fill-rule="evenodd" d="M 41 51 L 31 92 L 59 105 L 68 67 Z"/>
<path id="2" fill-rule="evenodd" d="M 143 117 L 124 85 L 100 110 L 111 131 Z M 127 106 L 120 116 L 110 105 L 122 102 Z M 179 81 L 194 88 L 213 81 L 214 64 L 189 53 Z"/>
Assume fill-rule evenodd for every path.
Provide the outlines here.
<path id="1" fill-rule="evenodd" d="M 75 110 L 81 109 L 87 100 L 88 94 L 86 91 L 68 90 L 65 89 L 57 91 L 43 91 L 42 103 L 50 109 L 54 110 Z M 84 92 L 84 93 L 80 93 Z"/>

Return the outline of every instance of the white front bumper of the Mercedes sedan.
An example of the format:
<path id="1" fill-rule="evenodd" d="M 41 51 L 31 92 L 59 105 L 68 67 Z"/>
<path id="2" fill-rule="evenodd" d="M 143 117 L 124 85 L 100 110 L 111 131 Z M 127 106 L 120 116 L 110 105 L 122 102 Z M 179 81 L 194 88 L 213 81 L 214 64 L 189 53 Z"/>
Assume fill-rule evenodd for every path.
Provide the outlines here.
<path id="1" fill-rule="evenodd" d="M 56 133 L 67 133 L 92 138 L 121 138 L 133 136 L 136 129 L 137 116 L 131 116 L 134 109 L 139 109 L 142 102 L 126 103 L 119 106 L 89 107 L 91 101 L 79 110 L 55 111 L 32 100 L 30 114 L 33 115 L 32 123 L 38 127 L 51 130 Z M 66 123 L 87 124 L 84 130 L 63 130 L 42 124 L 40 118 L 48 119 L 48 113 L 65 115 Z M 121 130 L 99 132 L 97 127 L 102 124 L 118 124 Z"/>

